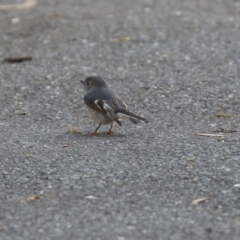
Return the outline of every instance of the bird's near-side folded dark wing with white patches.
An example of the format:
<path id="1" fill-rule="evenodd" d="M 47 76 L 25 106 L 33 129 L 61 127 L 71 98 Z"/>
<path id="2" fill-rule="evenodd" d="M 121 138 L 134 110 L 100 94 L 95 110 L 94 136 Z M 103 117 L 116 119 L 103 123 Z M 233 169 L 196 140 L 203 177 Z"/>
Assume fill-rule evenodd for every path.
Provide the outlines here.
<path id="1" fill-rule="evenodd" d="M 94 99 L 91 95 L 84 97 L 84 103 L 91 109 L 103 114 L 106 118 L 115 121 L 120 126 L 122 123 L 118 120 L 118 116 L 115 114 L 115 107 L 107 100 Z"/>

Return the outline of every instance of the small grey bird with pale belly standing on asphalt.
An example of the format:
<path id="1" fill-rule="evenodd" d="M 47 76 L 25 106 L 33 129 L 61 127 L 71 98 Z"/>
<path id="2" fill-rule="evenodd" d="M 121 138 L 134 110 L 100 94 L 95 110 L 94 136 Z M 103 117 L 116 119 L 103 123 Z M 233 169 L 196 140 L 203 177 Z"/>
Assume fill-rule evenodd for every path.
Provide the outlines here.
<path id="1" fill-rule="evenodd" d="M 119 115 L 128 116 L 131 122 L 137 124 L 139 121 L 148 122 L 144 117 L 138 116 L 128 110 L 127 104 L 108 87 L 102 77 L 90 76 L 85 81 L 80 81 L 86 90 L 83 98 L 91 118 L 99 125 L 92 133 L 97 135 L 97 130 L 102 124 L 111 124 L 107 134 L 112 134 L 113 123 L 122 126 Z"/>

